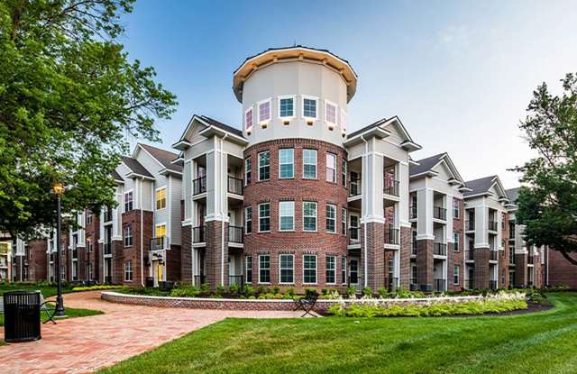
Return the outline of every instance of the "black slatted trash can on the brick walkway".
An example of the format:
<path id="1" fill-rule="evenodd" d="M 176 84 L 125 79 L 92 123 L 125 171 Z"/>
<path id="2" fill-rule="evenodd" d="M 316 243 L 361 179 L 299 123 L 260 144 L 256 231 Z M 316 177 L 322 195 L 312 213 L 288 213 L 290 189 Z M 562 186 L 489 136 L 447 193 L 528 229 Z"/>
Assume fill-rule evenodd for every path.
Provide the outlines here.
<path id="1" fill-rule="evenodd" d="M 41 339 L 40 292 L 12 291 L 4 294 L 4 340 L 32 342 Z"/>

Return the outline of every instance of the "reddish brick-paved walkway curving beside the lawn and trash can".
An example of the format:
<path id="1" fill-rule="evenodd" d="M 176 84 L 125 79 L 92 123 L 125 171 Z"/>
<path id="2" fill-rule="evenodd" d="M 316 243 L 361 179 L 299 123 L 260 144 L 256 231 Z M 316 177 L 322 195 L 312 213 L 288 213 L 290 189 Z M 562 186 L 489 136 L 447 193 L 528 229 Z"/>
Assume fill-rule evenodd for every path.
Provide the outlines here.
<path id="1" fill-rule="evenodd" d="M 85 373 L 149 351 L 226 317 L 297 317 L 278 311 L 171 309 L 108 303 L 100 292 L 64 295 L 64 306 L 105 315 L 42 324 L 42 339 L 0 346 L 0 373 Z M 1 336 L 4 330 L 0 328 Z"/>

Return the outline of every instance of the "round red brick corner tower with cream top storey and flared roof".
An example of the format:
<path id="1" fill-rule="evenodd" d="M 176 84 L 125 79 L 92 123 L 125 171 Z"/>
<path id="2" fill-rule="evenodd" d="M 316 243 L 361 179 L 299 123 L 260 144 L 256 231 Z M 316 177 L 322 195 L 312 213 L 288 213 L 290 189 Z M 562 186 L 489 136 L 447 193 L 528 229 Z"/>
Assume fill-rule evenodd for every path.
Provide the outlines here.
<path id="1" fill-rule="evenodd" d="M 346 286 L 343 139 L 356 83 L 347 61 L 300 46 L 266 50 L 234 72 L 249 141 L 244 255 L 254 287 Z"/>

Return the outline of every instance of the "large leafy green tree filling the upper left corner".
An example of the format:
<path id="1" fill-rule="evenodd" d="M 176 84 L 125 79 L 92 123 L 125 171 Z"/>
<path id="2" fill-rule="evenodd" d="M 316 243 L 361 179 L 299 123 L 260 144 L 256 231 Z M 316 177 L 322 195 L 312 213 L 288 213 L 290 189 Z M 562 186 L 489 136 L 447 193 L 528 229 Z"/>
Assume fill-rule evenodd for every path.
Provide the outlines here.
<path id="1" fill-rule="evenodd" d="M 0 2 L 0 231 L 32 233 L 65 210 L 113 204 L 128 137 L 155 141 L 176 98 L 118 36 L 133 0 Z"/>

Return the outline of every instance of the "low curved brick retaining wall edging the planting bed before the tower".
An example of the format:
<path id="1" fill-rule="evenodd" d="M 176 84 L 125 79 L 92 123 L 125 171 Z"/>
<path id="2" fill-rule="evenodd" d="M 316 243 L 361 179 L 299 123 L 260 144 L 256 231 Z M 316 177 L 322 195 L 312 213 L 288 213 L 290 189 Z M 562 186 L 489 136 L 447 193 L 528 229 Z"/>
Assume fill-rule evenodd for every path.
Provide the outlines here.
<path id="1" fill-rule="evenodd" d="M 201 297 L 169 297 L 169 296 L 142 296 L 128 295 L 118 292 L 102 292 L 103 300 L 113 303 L 134 304 L 139 306 L 159 306 L 189 309 L 225 309 L 225 310 L 293 310 L 295 303 L 292 300 L 249 300 L 238 298 L 201 298 Z M 325 312 L 335 304 L 344 303 L 378 303 L 382 306 L 431 305 L 435 303 L 464 303 L 479 300 L 482 296 L 453 296 L 453 297 L 426 297 L 426 298 L 389 298 L 374 300 L 318 300 L 316 312 Z"/>

